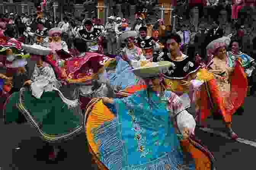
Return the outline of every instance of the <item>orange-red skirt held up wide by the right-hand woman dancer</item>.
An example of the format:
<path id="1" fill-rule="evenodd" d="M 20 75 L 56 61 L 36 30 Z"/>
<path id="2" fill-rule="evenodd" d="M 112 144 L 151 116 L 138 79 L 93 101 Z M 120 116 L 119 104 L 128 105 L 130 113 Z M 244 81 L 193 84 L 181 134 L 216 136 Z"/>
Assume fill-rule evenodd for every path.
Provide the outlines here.
<path id="1" fill-rule="evenodd" d="M 198 121 L 203 121 L 210 115 L 221 115 L 226 123 L 231 122 L 232 115 L 243 104 L 247 94 L 247 77 L 240 64 L 236 64 L 230 84 L 229 92 L 220 92 L 216 79 L 211 79 L 195 93 L 196 108 L 200 108 Z"/>

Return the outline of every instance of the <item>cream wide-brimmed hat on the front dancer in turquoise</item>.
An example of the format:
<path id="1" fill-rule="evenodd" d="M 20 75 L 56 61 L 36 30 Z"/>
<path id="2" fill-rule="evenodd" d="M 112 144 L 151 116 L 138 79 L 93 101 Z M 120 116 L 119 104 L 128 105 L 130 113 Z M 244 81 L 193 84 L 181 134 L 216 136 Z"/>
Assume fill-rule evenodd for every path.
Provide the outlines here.
<path id="1" fill-rule="evenodd" d="M 171 66 L 173 63 L 170 61 L 149 62 L 142 67 L 132 69 L 132 71 L 141 78 L 151 78 L 167 72 Z"/>

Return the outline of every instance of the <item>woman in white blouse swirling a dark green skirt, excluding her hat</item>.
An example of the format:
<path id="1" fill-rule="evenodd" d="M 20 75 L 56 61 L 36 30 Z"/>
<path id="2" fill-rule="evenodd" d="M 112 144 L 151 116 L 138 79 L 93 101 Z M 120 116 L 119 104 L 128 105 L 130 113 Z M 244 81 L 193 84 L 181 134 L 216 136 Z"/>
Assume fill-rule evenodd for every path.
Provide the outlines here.
<path id="1" fill-rule="evenodd" d="M 20 115 L 37 129 L 40 137 L 51 146 L 49 159 L 56 160 L 59 142 L 68 140 L 83 131 L 83 115 L 78 98 L 69 100 L 63 96 L 53 68 L 38 58 L 31 80 L 13 93 L 6 101 L 3 114 L 5 123 L 18 121 Z"/>

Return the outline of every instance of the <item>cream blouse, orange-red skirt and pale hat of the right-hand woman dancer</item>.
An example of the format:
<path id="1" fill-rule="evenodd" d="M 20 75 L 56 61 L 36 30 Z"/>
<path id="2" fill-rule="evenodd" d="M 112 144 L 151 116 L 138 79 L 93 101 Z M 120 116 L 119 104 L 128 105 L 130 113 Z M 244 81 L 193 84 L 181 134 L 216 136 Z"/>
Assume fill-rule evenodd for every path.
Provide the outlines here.
<path id="1" fill-rule="evenodd" d="M 229 38 L 216 39 L 208 45 L 212 53 L 219 47 L 230 42 Z M 238 59 L 241 61 L 241 59 Z M 247 93 L 247 78 L 240 62 L 235 61 L 233 67 L 229 67 L 230 58 L 226 61 L 220 60 L 217 56 L 211 60 L 209 70 L 222 70 L 221 75 L 213 74 L 214 79 L 205 82 L 195 93 L 196 112 L 199 123 L 210 115 L 221 116 L 226 124 L 231 123 L 231 117 L 243 104 Z M 232 131 L 232 130 L 231 130 Z M 232 132 L 234 133 L 234 132 Z M 236 134 L 231 134 L 233 139 Z"/>

